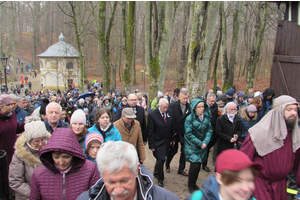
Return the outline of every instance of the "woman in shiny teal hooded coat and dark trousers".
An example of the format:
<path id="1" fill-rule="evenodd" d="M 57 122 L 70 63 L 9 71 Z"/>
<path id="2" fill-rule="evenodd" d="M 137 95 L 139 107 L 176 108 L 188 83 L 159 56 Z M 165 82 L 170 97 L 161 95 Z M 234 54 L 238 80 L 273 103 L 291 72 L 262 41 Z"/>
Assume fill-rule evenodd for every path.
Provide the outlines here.
<path id="1" fill-rule="evenodd" d="M 191 101 L 191 114 L 184 123 L 184 150 L 185 157 L 190 162 L 188 175 L 189 191 L 198 190 L 196 185 L 201 163 L 207 157 L 207 144 L 210 141 L 212 127 L 210 123 L 210 108 L 202 99 Z"/>

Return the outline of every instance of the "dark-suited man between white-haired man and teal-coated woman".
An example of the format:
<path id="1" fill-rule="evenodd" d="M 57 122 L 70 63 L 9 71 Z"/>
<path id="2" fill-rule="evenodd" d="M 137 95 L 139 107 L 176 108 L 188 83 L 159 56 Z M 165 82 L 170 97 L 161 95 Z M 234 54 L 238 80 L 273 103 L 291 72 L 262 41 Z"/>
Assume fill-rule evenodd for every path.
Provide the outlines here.
<path id="1" fill-rule="evenodd" d="M 176 131 L 175 134 L 175 143 L 170 145 L 170 148 L 167 150 L 167 161 L 166 161 L 166 171 L 170 172 L 170 163 L 174 155 L 178 151 L 178 142 L 181 144 L 181 154 L 179 159 L 178 174 L 187 176 L 185 169 L 185 155 L 184 155 L 184 122 L 185 118 L 191 113 L 190 104 L 187 102 L 189 98 L 188 90 L 182 88 L 179 93 L 179 101 L 175 101 L 170 104 L 170 109 L 173 111 L 173 123 Z"/>

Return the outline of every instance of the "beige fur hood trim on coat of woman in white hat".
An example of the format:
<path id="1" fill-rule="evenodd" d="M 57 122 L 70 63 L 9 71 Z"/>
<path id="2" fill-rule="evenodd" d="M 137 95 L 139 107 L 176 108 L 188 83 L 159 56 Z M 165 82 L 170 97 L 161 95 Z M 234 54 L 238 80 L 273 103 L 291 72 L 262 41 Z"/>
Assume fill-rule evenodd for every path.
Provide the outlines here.
<path id="1" fill-rule="evenodd" d="M 50 133 L 48 133 L 48 138 L 51 136 Z M 29 166 L 32 167 L 39 167 L 40 165 L 42 165 L 42 162 L 40 161 L 39 157 L 35 156 L 30 148 L 27 146 L 27 140 L 26 140 L 26 136 L 23 133 L 16 141 L 15 143 L 15 155 L 22 160 L 23 162 L 25 162 L 26 164 L 28 164 Z M 33 150 L 34 151 L 34 150 Z M 38 155 L 38 152 L 37 152 Z"/>

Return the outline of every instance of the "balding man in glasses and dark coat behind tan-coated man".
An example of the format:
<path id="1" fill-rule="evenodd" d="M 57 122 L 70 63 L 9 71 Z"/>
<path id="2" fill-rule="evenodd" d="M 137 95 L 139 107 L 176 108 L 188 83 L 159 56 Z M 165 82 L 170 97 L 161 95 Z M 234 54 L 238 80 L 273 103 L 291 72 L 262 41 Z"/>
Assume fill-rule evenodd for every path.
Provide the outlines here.
<path id="1" fill-rule="evenodd" d="M 137 106 L 137 101 L 138 101 L 138 98 L 135 94 L 129 94 L 128 95 L 128 104 L 124 107 L 122 106 L 117 109 L 117 113 L 115 115 L 114 121 L 117 121 L 121 118 L 123 108 L 128 108 L 128 107 L 132 108 L 134 114 L 136 115 L 135 120 L 140 122 L 141 131 L 142 131 L 142 135 L 143 135 L 143 142 L 144 142 L 144 145 L 146 145 L 148 133 L 147 133 L 147 127 L 146 127 L 145 111 L 144 111 L 144 108 Z"/>

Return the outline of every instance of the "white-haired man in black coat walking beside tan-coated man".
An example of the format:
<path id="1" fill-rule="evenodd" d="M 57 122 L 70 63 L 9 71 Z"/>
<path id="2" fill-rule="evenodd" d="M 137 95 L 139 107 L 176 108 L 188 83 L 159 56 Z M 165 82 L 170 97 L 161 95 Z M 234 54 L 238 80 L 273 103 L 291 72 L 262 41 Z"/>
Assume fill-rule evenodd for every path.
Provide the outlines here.
<path id="1" fill-rule="evenodd" d="M 156 158 L 154 176 L 158 179 L 158 185 L 164 187 L 164 163 L 167 149 L 173 143 L 173 112 L 168 109 L 169 102 L 162 98 L 159 106 L 148 115 L 149 149 Z"/>

